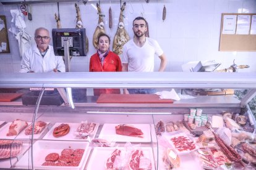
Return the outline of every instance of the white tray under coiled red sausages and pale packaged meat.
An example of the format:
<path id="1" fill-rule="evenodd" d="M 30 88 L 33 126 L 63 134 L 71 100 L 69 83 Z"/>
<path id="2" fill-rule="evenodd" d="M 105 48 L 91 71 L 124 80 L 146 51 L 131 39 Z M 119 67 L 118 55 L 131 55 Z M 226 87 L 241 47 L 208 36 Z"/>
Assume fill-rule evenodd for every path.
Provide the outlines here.
<path id="1" fill-rule="evenodd" d="M 64 124 L 69 124 L 70 131 L 66 136 L 61 136 L 61 137 L 54 137 L 53 136 L 53 130 L 55 127 L 61 125 L 62 123 L 55 123 L 53 127 L 49 130 L 49 132 L 43 137 L 43 139 L 49 139 L 49 140 L 90 140 L 94 139 L 96 136 L 96 132 L 98 130 L 98 127 L 100 124 L 96 123 L 96 126 L 94 128 L 94 131 L 92 132 L 92 136 L 87 137 L 87 139 L 75 139 L 75 131 L 77 130 L 77 127 L 80 126 L 81 123 L 64 123 Z"/>

